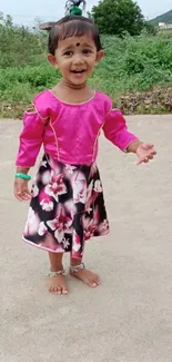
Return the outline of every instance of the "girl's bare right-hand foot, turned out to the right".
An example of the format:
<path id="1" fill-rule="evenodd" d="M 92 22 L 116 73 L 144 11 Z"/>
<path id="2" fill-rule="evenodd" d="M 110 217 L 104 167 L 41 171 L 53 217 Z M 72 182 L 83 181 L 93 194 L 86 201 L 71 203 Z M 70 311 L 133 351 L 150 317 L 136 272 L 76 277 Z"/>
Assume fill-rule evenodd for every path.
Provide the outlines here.
<path id="1" fill-rule="evenodd" d="M 91 287 L 97 287 L 100 284 L 100 277 L 99 275 L 92 273 L 91 271 L 87 268 L 81 268 L 78 272 L 73 272 L 70 270 L 70 274 L 72 276 L 78 277 L 81 280 L 84 284 L 91 286 Z"/>

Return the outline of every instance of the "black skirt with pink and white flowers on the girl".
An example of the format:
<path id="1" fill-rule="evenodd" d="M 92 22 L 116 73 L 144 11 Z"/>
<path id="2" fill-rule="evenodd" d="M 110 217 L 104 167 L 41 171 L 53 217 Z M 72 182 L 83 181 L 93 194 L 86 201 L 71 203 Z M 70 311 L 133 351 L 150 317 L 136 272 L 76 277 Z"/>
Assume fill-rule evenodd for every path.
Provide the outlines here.
<path id="1" fill-rule="evenodd" d="M 44 155 L 37 173 L 23 239 L 53 253 L 83 255 L 84 242 L 109 233 L 95 164 L 67 165 Z"/>

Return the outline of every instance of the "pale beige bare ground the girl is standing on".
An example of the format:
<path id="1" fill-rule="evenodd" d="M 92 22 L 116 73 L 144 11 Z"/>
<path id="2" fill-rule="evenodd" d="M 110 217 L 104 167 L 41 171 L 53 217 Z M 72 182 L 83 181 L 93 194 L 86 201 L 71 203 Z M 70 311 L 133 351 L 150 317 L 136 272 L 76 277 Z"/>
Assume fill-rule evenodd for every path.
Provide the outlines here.
<path id="1" fill-rule="evenodd" d="M 68 277 L 65 297 L 47 292 L 47 253 L 21 242 L 28 206 L 12 195 L 21 123 L 0 121 L 2 362 L 171 362 L 172 117 L 128 119 L 159 155 L 138 167 L 101 139 L 111 234 L 88 242 L 85 264 L 102 285 L 92 291 Z"/>

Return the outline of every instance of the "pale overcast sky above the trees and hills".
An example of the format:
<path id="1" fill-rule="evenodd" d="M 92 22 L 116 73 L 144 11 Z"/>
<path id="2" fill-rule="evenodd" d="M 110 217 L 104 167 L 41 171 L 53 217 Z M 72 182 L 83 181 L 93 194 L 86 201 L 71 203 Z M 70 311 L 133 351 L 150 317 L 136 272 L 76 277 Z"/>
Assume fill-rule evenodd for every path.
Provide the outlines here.
<path id="1" fill-rule="evenodd" d="M 36 17 L 42 21 L 57 20 L 64 14 L 65 0 L 0 0 L 0 11 L 10 13 L 14 22 L 31 25 Z M 138 0 L 145 18 L 154 18 L 172 9 L 172 0 Z M 98 4 L 98 0 L 87 0 L 87 9 Z"/>

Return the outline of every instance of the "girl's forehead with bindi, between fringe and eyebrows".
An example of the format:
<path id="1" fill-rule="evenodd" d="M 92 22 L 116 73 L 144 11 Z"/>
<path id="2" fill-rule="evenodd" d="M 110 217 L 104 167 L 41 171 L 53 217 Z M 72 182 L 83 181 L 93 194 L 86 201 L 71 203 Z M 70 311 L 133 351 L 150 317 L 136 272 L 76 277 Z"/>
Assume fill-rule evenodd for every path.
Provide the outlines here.
<path id="1" fill-rule="evenodd" d="M 81 37 L 70 37 L 65 38 L 64 40 L 59 40 L 58 42 L 58 49 L 65 49 L 65 48 L 78 48 L 79 46 L 81 47 L 91 47 L 91 48 L 97 48 L 93 39 L 91 36 L 85 35 Z"/>

